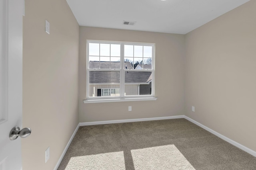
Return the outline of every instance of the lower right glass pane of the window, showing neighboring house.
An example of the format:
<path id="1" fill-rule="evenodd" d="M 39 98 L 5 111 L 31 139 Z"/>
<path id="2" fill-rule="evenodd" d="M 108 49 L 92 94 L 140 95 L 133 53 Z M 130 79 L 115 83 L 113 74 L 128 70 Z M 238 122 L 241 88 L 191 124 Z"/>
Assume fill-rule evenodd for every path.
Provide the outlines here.
<path id="1" fill-rule="evenodd" d="M 150 95 L 152 72 L 125 72 L 125 95 Z"/>

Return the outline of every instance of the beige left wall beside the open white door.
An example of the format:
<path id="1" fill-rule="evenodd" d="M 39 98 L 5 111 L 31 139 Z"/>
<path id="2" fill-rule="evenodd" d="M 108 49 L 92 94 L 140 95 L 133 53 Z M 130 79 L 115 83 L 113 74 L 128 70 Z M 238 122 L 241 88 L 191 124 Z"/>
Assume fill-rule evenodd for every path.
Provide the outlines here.
<path id="1" fill-rule="evenodd" d="M 66 0 L 25 3 L 23 127 L 32 133 L 22 139 L 22 164 L 23 170 L 52 170 L 79 122 L 79 25 Z"/>

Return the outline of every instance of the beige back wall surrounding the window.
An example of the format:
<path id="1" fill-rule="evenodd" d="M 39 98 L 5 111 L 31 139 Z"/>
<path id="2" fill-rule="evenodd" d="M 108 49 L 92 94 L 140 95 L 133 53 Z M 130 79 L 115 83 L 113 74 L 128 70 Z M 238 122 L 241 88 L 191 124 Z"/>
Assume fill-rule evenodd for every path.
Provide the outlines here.
<path id="1" fill-rule="evenodd" d="M 79 120 L 108 121 L 184 115 L 185 35 L 80 26 Z M 84 104 L 86 39 L 156 43 L 156 101 Z M 128 112 L 128 106 L 132 111 Z"/>

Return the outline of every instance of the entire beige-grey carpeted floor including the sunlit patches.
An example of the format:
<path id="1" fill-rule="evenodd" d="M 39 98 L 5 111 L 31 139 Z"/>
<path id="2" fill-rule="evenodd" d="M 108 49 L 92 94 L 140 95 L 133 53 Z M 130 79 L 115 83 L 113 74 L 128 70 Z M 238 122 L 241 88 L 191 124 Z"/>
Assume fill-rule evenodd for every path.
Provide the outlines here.
<path id="1" fill-rule="evenodd" d="M 256 157 L 169 119 L 80 127 L 58 170 L 256 170 Z"/>

